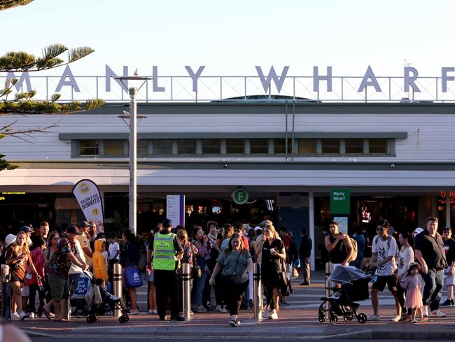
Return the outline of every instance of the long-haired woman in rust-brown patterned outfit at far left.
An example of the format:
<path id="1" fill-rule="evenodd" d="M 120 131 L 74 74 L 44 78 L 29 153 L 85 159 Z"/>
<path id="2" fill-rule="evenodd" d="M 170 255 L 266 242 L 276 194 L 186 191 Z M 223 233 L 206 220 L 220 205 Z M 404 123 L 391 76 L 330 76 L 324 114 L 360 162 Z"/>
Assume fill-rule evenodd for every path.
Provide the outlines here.
<path id="1" fill-rule="evenodd" d="M 36 275 L 36 268 L 30 258 L 27 233 L 24 231 L 18 233 L 15 243 L 8 247 L 5 259 L 6 264 L 11 268 L 11 289 L 13 290 L 13 303 L 16 303 L 16 310 L 11 314 L 11 320 L 23 320 L 28 317 L 22 311 L 22 284 L 24 283 L 27 264 L 30 265 L 31 275 Z"/>

